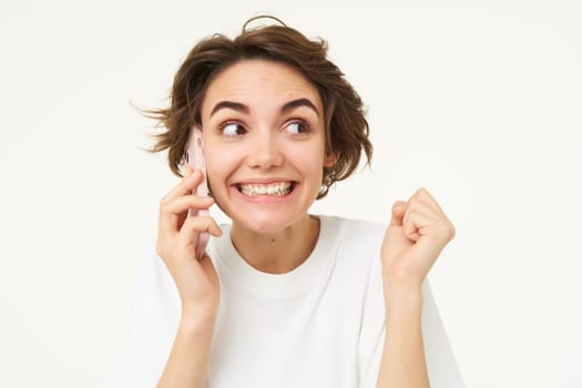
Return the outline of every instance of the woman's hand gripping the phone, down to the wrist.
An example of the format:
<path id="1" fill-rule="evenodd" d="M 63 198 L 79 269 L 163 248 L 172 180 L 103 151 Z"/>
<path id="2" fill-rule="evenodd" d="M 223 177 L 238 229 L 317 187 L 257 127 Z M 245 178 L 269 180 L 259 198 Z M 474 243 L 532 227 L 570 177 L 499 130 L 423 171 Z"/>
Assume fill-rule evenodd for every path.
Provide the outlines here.
<path id="1" fill-rule="evenodd" d="M 156 251 L 172 275 L 182 300 L 182 314 L 207 313 L 218 307 L 219 284 L 208 257 L 196 259 L 194 237 L 208 232 L 218 237 L 222 231 L 208 216 L 188 216 L 188 208 L 208 208 L 214 200 L 192 194 L 202 182 L 202 172 L 186 166 L 182 182 L 160 201 Z"/>

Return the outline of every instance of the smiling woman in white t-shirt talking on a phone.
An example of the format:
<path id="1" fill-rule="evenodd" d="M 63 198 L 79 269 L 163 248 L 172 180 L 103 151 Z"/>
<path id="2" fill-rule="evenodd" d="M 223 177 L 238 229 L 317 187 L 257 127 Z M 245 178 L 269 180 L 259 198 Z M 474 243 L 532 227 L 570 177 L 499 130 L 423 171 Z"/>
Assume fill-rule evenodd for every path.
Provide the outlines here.
<path id="1" fill-rule="evenodd" d="M 425 282 L 452 224 L 425 188 L 388 226 L 308 214 L 371 157 L 361 101 L 324 42 L 245 27 L 196 44 L 154 112 L 154 151 L 185 173 L 161 201 L 116 384 L 461 387 Z M 205 172 L 184 163 L 197 130 Z M 212 197 L 192 194 L 204 177 Z M 213 204 L 232 225 L 187 215 Z"/>

